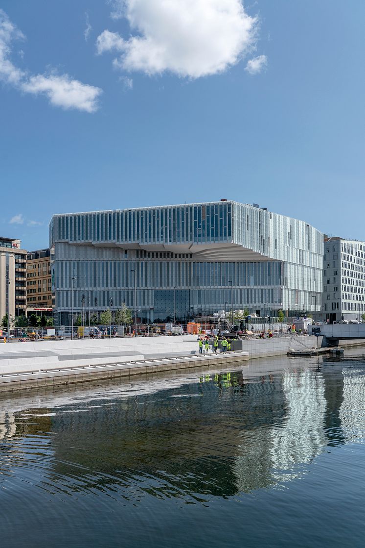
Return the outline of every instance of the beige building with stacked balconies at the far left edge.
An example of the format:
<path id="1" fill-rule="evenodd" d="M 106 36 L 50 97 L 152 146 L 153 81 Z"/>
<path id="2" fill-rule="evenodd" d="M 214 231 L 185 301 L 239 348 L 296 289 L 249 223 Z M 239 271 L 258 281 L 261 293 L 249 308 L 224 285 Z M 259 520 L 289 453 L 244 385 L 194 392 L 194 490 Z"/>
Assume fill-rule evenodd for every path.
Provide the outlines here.
<path id="1" fill-rule="evenodd" d="M 27 252 L 19 239 L 0 236 L 0 320 L 26 313 Z"/>

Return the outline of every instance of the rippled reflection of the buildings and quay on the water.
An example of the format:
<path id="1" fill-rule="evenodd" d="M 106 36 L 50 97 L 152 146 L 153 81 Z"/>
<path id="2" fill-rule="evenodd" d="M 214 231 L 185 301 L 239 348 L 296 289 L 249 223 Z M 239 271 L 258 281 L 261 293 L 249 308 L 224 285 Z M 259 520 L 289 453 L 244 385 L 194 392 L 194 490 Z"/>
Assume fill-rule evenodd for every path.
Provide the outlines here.
<path id="1" fill-rule="evenodd" d="M 322 363 L 3 399 L 0 485 L 21 479 L 125 503 L 207 503 L 282 486 L 328 446 L 364 437 L 363 369 Z"/>

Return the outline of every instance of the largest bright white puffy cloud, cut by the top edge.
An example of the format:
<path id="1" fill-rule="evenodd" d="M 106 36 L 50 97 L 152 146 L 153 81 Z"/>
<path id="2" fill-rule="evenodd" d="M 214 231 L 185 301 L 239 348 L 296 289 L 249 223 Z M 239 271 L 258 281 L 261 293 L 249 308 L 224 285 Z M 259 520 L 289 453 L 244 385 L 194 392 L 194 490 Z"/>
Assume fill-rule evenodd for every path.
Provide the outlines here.
<path id="1" fill-rule="evenodd" d="M 124 16 L 134 35 L 105 30 L 98 53 L 121 52 L 114 66 L 148 75 L 170 71 L 199 78 L 235 65 L 256 43 L 257 18 L 241 0 L 117 0 L 112 17 Z"/>

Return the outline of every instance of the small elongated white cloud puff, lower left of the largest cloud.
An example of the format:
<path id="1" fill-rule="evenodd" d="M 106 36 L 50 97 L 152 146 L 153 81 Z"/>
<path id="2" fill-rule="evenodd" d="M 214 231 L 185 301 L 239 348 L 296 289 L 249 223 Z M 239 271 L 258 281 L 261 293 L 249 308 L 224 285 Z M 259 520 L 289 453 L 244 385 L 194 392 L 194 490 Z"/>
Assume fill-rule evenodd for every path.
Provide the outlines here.
<path id="1" fill-rule="evenodd" d="M 45 94 L 51 104 L 60 106 L 62 109 L 78 109 L 86 112 L 97 110 L 96 100 L 102 93 L 100 88 L 73 80 L 67 74 L 32 76 L 22 85 L 22 89 L 36 95 Z"/>

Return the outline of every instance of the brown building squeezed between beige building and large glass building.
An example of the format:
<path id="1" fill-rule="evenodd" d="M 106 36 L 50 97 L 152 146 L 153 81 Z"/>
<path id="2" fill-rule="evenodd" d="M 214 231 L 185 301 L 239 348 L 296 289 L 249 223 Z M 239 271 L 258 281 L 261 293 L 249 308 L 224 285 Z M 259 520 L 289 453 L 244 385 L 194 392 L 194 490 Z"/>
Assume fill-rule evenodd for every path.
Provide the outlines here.
<path id="1" fill-rule="evenodd" d="M 49 249 L 38 249 L 27 255 L 27 315 L 53 310 L 51 258 Z"/>

